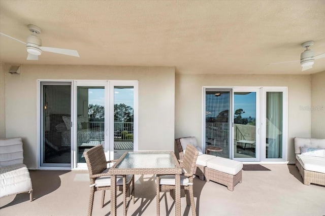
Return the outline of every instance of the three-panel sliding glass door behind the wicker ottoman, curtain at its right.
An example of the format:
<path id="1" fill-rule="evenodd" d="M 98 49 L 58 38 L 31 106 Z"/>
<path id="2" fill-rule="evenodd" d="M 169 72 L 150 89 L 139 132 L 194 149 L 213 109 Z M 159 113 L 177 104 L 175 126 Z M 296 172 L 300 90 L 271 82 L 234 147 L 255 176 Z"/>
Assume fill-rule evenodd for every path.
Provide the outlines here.
<path id="1" fill-rule="evenodd" d="M 286 87 L 204 88 L 202 146 L 244 162 L 286 161 L 286 95 Z"/>

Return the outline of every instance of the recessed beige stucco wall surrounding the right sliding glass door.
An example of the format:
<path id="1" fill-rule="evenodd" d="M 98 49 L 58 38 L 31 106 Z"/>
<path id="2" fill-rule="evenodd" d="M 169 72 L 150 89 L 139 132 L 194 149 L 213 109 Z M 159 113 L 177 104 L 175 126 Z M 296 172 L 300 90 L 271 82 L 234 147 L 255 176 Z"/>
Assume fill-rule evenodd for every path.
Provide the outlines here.
<path id="1" fill-rule="evenodd" d="M 288 87 L 288 157 L 295 161 L 294 137 L 310 137 L 311 113 L 300 109 L 311 104 L 310 75 L 186 75 L 175 78 L 175 137 L 196 136 L 202 140 L 202 87 Z"/>

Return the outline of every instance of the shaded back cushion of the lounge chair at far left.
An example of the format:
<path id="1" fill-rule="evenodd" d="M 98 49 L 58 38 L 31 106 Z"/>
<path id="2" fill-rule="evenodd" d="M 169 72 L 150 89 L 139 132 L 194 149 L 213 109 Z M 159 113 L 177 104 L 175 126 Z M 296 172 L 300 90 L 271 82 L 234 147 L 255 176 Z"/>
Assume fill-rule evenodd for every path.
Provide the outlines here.
<path id="1" fill-rule="evenodd" d="M 22 164 L 23 160 L 21 137 L 0 139 L 0 167 Z"/>

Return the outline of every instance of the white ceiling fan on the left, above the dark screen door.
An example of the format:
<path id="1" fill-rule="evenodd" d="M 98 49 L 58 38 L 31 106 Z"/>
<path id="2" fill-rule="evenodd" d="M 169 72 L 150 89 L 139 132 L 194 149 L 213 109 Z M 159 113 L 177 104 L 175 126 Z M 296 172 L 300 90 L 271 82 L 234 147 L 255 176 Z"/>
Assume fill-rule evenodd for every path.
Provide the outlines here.
<path id="1" fill-rule="evenodd" d="M 25 44 L 26 50 L 28 52 L 27 60 L 39 60 L 39 55 L 41 55 L 43 51 L 80 57 L 77 50 L 60 49 L 54 47 L 42 47 L 42 40 L 36 35 L 41 33 L 41 28 L 36 25 L 29 24 L 28 29 L 29 31 L 32 32 L 32 34 L 27 37 L 26 43 L 18 39 L 15 39 L 7 34 L 1 32 L 0 34 Z"/>

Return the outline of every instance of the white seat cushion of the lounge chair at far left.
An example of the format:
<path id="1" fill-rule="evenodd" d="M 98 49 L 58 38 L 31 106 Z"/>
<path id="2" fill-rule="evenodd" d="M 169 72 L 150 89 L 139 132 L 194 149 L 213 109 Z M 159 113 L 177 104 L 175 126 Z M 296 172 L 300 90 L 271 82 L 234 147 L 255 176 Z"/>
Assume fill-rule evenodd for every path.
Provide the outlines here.
<path id="1" fill-rule="evenodd" d="M 25 164 L 0 167 L 0 197 L 31 190 L 31 179 Z"/>

